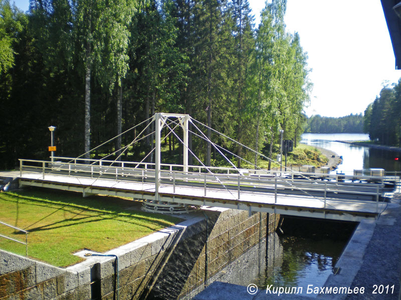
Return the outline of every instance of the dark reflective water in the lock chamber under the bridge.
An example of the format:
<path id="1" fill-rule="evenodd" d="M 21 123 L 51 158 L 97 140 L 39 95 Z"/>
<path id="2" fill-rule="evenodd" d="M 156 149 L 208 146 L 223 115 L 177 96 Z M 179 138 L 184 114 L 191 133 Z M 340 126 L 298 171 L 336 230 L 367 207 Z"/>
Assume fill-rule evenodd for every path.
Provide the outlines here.
<path id="1" fill-rule="evenodd" d="M 268 236 L 265 264 L 252 283 L 262 290 L 302 287 L 303 294 L 309 284 L 324 286 L 354 228 L 352 222 L 284 216 L 284 234 Z"/>

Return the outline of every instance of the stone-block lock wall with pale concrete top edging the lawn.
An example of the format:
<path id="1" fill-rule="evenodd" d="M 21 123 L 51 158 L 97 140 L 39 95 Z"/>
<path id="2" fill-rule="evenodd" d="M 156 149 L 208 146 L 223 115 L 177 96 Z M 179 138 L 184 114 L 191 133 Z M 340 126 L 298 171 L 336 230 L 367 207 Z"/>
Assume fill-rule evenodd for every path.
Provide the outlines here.
<path id="1" fill-rule="evenodd" d="M 279 221 L 274 214 L 218 210 L 106 252 L 117 255 L 118 276 L 114 256 L 58 268 L 0 250 L 0 300 L 190 299 Z"/>

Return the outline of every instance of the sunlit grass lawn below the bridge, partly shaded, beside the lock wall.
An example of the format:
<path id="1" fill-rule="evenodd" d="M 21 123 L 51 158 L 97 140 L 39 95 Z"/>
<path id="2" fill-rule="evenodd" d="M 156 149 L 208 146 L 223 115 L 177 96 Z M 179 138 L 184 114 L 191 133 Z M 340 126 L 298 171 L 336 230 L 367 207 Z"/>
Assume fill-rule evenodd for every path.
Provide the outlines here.
<path id="1" fill-rule="evenodd" d="M 56 266 L 82 260 L 72 253 L 104 252 L 180 219 L 139 211 L 138 203 L 110 196 L 32 188 L 0 193 L 0 221 L 29 231 L 28 255 Z M 25 233 L 0 224 L 0 234 L 25 241 Z M 25 245 L 0 237 L 0 248 L 25 255 Z"/>

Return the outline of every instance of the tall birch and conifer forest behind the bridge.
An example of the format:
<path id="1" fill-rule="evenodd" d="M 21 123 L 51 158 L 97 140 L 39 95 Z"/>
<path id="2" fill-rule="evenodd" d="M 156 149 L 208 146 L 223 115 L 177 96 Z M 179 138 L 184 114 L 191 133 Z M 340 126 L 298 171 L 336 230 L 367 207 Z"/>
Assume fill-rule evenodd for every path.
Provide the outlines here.
<path id="1" fill-rule="evenodd" d="M 266 1 L 256 28 L 248 0 L 30 0 L 28 12 L 0 0 L 0 169 L 48 159 L 50 125 L 55 155 L 77 157 L 154 112 L 188 113 L 270 157 L 280 130 L 296 144 L 312 83 L 285 11 L 286 0 Z M 152 149 L 153 131 L 85 156 L 130 145 L 123 159 L 138 159 Z M 165 140 L 170 151 L 174 138 Z M 190 134 L 189 147 L 213 163 L 211 143 Z"/>

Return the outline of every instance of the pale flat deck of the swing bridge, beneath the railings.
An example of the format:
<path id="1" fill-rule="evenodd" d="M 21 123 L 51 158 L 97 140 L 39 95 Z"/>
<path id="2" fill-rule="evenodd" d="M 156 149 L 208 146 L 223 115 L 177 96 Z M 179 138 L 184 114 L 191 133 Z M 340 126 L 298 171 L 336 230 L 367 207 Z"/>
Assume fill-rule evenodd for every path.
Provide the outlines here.
<path id="1" fill-rule="evenodd" d="M 43 186 L 74 190 L 88 195 L 100 193 L 130 196 L 134 199 L 155 200 L 155 184 L 150 182 L 94 179 L 60 174 L 23 173 L 20 185 Z M 235 190 L 199 186 L 182 186 L 164 182 L 159 188 L 159 200 L 192 205 L 209 205 L 252 211 L 275 212 L 290 215 L 358 221 L 376 217 L 386 203 L 378 201 L 325 199 L 301 194 L 283 194 L 260 190 Z"/>

